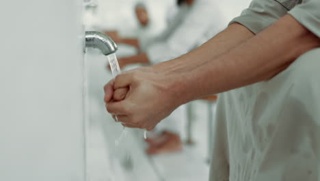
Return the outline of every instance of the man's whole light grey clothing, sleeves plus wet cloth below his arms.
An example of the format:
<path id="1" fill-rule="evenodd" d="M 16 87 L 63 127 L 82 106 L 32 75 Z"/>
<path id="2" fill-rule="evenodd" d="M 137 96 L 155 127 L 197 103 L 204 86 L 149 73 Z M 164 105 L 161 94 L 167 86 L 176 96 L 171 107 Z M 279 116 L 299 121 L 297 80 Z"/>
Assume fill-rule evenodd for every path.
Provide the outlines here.
<path id="1" fill-rule="evenodd" d="M 254 0 L 231 23 L 258 34 L 285 14 L 320 37 L 320 0 Z M 319 49 L 311 55 L 319 59 Z M 320 180 L 319 80 L 310 77 L 306 92 L 299 74 L 286 69 L 219 95 L 211 181 Z"/>

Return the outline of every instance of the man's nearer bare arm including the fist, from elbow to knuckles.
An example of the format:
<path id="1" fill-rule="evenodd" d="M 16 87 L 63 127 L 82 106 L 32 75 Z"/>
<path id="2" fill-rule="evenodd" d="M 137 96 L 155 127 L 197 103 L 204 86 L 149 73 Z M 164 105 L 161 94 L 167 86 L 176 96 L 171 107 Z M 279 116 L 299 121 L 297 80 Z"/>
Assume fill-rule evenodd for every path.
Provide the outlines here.
<path id="1" fill-rule="evenodd" d="M 105 86 L 107 110 L 124 124 L 150 130 L 181 104 L 268 80 L 320 46 L 319 38 L 290 15 L 239 44 L 230 39 L 237 31 L 225 35 L 176 60 L 119 75 Z M 126 87 L 125 99 L 111 102 L 113 90 Z"/>

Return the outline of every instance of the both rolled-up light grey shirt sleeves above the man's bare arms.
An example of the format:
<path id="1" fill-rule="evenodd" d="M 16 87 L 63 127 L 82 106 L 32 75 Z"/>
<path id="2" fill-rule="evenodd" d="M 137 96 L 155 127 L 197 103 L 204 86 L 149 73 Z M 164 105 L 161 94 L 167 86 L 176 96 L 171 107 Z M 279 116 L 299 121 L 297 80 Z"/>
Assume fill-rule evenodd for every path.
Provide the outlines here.
<path id="1" fill-rule="evenodd" d="M 230 23 L 240 23 L 258 34 L 285 14 L 320 37 L 320 0 L 254 0 Z"/>

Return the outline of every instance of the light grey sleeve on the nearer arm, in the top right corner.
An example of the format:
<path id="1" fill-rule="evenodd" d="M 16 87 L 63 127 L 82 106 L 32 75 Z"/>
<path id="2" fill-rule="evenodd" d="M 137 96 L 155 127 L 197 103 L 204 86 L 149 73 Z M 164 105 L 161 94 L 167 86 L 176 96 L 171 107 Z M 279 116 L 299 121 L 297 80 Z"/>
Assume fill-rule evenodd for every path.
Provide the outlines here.
<path id="1" fill-rule="evenodd" d="M 305 0 L 288 13 L 320 38 L 320 0 Z"/>

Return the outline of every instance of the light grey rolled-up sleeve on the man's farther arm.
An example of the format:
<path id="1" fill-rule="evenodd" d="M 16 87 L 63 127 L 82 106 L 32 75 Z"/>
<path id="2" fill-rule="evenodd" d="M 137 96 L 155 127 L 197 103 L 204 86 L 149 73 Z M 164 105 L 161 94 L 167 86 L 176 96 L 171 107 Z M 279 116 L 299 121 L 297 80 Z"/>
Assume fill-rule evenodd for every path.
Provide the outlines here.
<path id="1" fill-rule="evenodd" d="M 278 1 L 254 0 L 249 8 L 241 12 L 241 16 L 233 19 L 229 24 L 240 23 L 250 29 L 254 34 L 258 34 L 284 16 L 287 12 L 288 9 Z"/>

